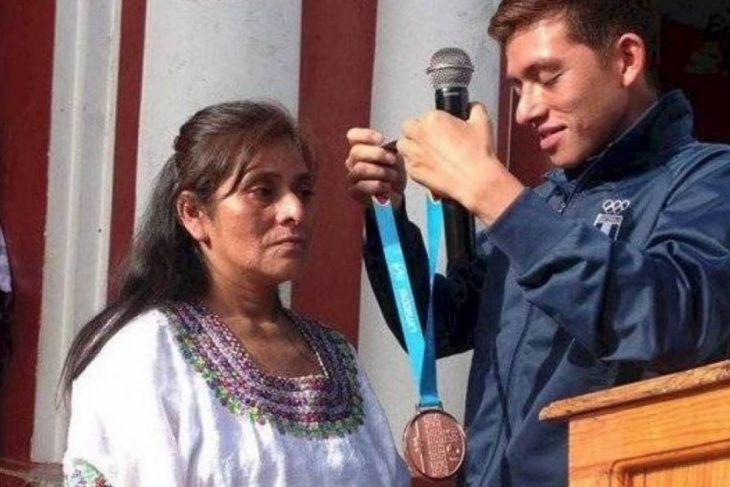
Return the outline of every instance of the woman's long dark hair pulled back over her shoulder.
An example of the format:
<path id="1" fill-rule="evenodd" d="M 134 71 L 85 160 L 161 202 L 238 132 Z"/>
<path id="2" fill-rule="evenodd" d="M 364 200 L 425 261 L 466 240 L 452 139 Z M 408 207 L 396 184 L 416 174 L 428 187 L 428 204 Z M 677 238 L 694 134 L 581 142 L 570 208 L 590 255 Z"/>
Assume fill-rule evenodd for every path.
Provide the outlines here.
<path id="1" fill-rule="evenodd" d="M 209 276 L 196 241 L 180 223 L 176 202 L 192 192 L 212 203 L 220 185 L 235 175 L 235 191 L 246 168 L 264 146 L 294 142 L 314 171 L 311 148 L 285 109 L 269 102 L 238 101 L 206 107 L 175 138 L 174 154 L 162 167 L 132 251 L 122 266 L 119 292 L 84 325 L 66 357 L 64 395 L 101 348 L 131 319 L 161 303 L 202 297 Z"/>

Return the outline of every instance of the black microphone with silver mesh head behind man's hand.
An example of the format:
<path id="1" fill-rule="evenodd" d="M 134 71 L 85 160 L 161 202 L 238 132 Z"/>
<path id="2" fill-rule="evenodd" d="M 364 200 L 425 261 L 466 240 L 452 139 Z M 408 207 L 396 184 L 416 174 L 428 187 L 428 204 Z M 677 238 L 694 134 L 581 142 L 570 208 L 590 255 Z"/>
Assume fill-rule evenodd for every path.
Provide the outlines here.
<path id="1" fill-rule="evenodd" d="M 436 95 L 436 109 L 462 120 L 469 118 L 469 82 L 474 66 L 469 55 L 456 47 L 439 49 L 431 56 L 426 73 Z M 459 203 L 442 201 L 447 265 L 471 260 L 475 252 L 474 218 Z"/>

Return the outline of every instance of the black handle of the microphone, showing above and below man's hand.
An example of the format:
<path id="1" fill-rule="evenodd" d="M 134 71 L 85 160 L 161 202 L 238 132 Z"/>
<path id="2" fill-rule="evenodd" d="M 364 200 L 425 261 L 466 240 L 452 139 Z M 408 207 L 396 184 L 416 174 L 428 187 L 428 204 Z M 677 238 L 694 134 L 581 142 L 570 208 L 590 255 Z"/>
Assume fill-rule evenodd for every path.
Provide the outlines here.
<path id="1" fill-rule="evenodd" d="M 464 86 L 447 86 L 436 90 L 436 109 L 459 117 L 469 118 L 469 91 Z M 445 198 L 444 233 L 446 234 L 447 265 L 468 262 L 474 257 L 474 218 L 456 201 Z"/>

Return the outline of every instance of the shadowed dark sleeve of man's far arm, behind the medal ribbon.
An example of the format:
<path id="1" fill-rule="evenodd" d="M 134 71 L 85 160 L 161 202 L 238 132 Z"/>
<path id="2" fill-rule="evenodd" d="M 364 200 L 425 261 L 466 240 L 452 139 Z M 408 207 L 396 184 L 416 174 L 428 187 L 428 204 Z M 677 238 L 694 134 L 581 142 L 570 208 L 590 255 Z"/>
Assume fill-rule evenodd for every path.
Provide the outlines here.
<path id="1" fill-rule="evenodd" d="M 421 231 L 406 216 L 405 204 L 396 212 L 396 224 L 403 246 L 403 254 L 415 294 L 421 324 L 426 322 L 429 299 L 428 255 Z M 383 255 L 374 212 L 365 213 L 365 269 L 370 285 L 385 317 L 388 328 L 406 349 L 398 311 L 390 284 L 390 276 Z M 437 275 L 434 283 L 434 317 L 436 323 L 436 351 L 445 357 L 469 350 L 479 310 L 479 291 L 484 278 L 482 259 L 473 262 L 450 263 L 447 276 Z"/>

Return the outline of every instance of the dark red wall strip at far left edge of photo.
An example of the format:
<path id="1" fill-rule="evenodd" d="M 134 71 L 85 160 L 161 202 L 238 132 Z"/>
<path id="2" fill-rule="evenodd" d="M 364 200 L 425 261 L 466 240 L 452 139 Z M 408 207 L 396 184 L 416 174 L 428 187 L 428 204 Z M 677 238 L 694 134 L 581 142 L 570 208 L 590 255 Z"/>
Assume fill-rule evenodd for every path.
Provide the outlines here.
<path id="1" fill-rule="evenodd" d="M 55 2 L 0 2 L 0 222 L 15 289 L 0 457 L 30 459 L 40 328 Z"/>

